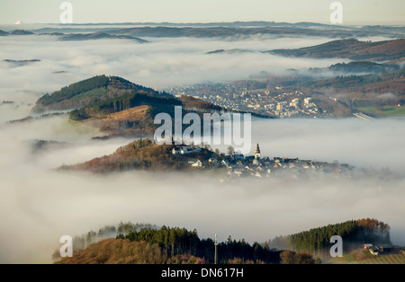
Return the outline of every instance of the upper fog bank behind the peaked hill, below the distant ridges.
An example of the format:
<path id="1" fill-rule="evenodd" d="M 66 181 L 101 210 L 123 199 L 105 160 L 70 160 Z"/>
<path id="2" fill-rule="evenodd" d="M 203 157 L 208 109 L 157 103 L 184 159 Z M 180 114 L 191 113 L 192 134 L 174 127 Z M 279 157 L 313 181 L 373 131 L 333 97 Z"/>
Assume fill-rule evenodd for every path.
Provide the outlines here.
<path id="1" fill-rule="evenodd" d="M 153 38 L 139 44 L 130 40 L 58 41 L 52 36 L 14 36 L 0 40 L 2 99 L 15 99 L 15 85 L 23 90 L 53 92 L 94 75 L 119 75 L 136 84 L 164 88 L 205 81 L 246 79 L 266 71 L 280 75 L 289 68 L 326 67 L 342 59 L 278 57 L 259 51 L 299 48 L 325 43 L 320 37 L 252 36 L 229 39 Z M 256 52 L 207 55 L 217 49 Z M 15 66 L 3 59 L 40 62 Z M 6 98 L 4 98 L 6 97 Z M 36 97 L 38 98 L 38 97 Z"/>

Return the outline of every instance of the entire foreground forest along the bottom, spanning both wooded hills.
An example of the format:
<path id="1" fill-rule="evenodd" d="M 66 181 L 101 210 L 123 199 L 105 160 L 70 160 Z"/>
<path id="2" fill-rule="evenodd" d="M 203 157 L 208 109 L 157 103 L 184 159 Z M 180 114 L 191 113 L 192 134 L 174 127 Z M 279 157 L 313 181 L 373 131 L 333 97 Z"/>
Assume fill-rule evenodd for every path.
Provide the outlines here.
<path id="1" fill-rule="evenodd" d="M 320 251 L 329 253 L 329 240 L 333 235 L 342 237 L 347 252 L 352 251 L 347 247 L 355 246 L 358 250 L 364 243 L 391 243 L 389 231 L 389 225 L 364 218 L 279 236 L 264 243 L 249 244 L 245 239 L 237 241 L 229 235 L 225 242 L 217 243 L 217 261 L 223 264 L 318 264 L 322 262 Z M 56 263 L 201 264 L 213 263 L 215 256 L 214 240 L 201 239 L 195 229 L 130 222 L 105 225 L 98 232 L 76 236 L 73 248 L 73 257 L 61 259 L 57 250 L 53 259 Z"/>

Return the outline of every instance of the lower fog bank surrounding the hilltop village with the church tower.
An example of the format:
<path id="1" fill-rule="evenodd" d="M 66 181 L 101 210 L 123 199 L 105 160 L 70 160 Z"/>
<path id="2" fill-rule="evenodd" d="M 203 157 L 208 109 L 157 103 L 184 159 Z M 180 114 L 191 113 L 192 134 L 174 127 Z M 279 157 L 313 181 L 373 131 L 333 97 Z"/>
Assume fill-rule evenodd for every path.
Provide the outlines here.
<path id="1" fill-rule="evenodd" d="M 265 242 L 348 219 L 375 217 L 405 243 L 403 119 L 255 119 L 252 146 L 263 156 L 338 160 L 390 167 L 396 176 L 322 175 L 220 181 L 202 173 L 58 172 L 112 154 L 130 139 L 90 141 L 98 132 L 53 117 L 5 124 L 0 131 L 0 261 L 51 262 L 60 236 L 72 237 L 120 221 L 196 228 L 200 237 L 228 235 Z M 30 140 L 66 142 L 32 151 Z M 222 148 L 221 148 L 222 149 Z M 225 149 L 222 150 L 225 152 Z"/>

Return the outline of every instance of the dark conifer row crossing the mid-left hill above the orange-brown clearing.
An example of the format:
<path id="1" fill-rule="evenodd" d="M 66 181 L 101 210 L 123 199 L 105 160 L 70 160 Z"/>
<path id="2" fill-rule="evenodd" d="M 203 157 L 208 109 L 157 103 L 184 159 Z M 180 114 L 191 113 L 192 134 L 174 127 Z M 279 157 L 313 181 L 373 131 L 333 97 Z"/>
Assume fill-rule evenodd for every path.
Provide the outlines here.
<path id="1" fill-rule="evenodd" d="M 97 101 L 79 110 L 72 110 L 69 118 L 72 120 L 87 119 L 92 116 L 107 115 L 121 110 L 129 110 L 130 108 L 140 105 L 181 106 L 182 101 L 166 96 L 156 97 L 150 93 L 139 91 L 105 101 Z"/>

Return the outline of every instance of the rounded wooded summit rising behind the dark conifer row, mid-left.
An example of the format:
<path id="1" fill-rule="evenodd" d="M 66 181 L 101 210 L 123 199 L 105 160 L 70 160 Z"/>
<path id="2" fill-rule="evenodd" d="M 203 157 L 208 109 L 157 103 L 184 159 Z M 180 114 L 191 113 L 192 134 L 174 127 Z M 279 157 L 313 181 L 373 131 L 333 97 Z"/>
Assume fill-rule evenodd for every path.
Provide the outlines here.
<path id="1" fill-rule="evenodd" d="M 144 93 L 158 96 L 165 93 L 133 84 L 118 76 L 98 75 L 40 97 L 35 107 L 36 112 L 46 110 L 74 110 L 98 101 L 121 97 L 128 93 Z"/>

